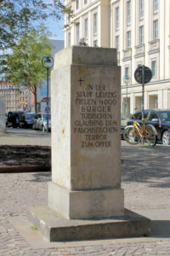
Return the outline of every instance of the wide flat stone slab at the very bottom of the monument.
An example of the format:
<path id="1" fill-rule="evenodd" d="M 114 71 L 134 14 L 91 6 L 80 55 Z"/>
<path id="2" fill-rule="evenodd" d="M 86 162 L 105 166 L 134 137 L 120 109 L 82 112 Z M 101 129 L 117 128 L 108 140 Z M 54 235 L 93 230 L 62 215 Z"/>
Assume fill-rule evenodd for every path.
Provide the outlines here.
<path id="1" fill-rule="evenodd" d="M 48 241 L 78 241 L 150 235 L 150 219 L 128 211 L 117 218 L 66 219 L 48 206 L 28 212 L 31 224 Z"/>

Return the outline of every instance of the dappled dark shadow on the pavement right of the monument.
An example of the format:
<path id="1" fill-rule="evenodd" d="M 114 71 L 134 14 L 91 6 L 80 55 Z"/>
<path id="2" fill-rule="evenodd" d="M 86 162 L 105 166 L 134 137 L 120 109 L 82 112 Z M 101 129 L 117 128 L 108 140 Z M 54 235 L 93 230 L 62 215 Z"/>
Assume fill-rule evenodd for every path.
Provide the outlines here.
<path id="1" fill-rule="evenodd" d="M 150 187 L 170 187 L 170 147 L 122 147 L 122 182 L 150 183 Z"/>

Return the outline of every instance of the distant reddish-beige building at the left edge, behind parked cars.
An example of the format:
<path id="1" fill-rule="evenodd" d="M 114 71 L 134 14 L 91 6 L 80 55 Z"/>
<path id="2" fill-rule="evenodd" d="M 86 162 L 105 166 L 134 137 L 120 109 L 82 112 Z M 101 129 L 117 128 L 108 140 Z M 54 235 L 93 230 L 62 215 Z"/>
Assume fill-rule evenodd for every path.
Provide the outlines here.
<path id="1" fill-rule="evenodd" d="M 11 83 L 0 83 L 0 96 L 5 99 L 5 111 L 27 111 L 29 106 L 29 90 L 23 86 L 14 87 Z"/>

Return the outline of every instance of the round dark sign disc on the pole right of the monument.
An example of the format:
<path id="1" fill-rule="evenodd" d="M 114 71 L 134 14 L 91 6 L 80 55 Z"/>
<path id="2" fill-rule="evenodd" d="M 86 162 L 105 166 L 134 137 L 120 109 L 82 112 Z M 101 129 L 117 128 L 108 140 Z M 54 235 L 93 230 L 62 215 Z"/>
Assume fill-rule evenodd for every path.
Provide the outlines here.
<path id="1" fill-rule="evenodd" d="M 144 71 L 143 71 L 144 68 Z M 143 79 L 143 73 L 144 73 L 144 79 Z M 134 72 L 134 79 L 139 84 L 148 84 L 150 83 L 150 80 L 152 79 L 152 72 L 150 70 L 150 67 L 140 66 L 138 67 Z"/>

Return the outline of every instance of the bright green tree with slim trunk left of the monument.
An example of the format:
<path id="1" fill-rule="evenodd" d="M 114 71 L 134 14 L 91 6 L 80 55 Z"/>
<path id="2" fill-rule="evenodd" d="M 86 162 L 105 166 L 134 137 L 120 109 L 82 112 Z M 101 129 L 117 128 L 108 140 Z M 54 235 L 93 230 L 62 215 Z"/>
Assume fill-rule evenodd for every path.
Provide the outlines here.
<path id="1" fill-rule="evenodd" d="M 37 113 L 37 87 L 46 78 L 42 67 L 42 56 L 51 55 L 53 48 L 48 39 L 49 32 L 41 25 L 39 30 L 34 28 L 20 38 L 12 54 L 7 55 L 0 65 L 3 67 L 3 80 L 15 86 L 24 84 L 31 89 L 35 96 L 35 110 Z"/>

